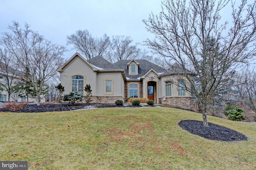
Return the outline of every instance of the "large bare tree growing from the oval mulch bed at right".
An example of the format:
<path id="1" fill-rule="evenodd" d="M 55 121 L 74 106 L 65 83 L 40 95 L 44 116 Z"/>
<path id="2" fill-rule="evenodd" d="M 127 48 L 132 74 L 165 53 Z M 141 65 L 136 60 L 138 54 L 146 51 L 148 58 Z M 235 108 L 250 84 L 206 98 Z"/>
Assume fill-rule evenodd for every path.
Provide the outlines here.
<path id="1" fill-rule="evenodd" d="M 232 22 L 221 22 L 220 11 L 229 4 Z M 230 0 L 165 0 L 159 15 L 150 14 L 143 20 L 147 30 L 156 35 L 146 44 L 181 66 L 189 84 L 186 89 L 202 106 L 204 126 L 208 126 L 207 106 L 224 77 L 255 56 L 255 4 L 242 0 L 236 8 Z"/>

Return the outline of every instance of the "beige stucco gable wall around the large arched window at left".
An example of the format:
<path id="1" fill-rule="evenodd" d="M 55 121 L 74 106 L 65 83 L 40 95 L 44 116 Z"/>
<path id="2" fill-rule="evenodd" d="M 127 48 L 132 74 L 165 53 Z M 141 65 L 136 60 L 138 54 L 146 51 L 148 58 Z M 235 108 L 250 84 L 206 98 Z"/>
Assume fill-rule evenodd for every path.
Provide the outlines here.
<path id="1" fill-rule="evenodd" d="M 92 89 L 92 95 L 96 95 L 96 73 L 92 70 L 92 67 L 83 61 L 80 57 L 74 58 L 60 73 L 60 82 L 64 86 L 64 94 L 70 93 L 72 86 L 72 76 L 82 75 L 84 76 L 84 87 L 86 84 L 90 84 Z M 85 95 L 85 91 L 84 91 Z"/>

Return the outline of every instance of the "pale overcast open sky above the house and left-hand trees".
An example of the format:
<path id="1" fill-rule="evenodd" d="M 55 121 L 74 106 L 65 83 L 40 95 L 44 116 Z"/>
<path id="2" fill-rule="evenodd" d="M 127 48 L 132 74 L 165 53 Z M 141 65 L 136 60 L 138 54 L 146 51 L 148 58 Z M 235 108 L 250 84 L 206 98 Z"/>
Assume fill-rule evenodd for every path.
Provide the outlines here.
<path id="1" fill-rule="evenodd" d="M 142 43 L 154 38 L 142 20 L 160 11 L 161 0 L 0 0 L 0 33 L 17 21 L 60 45 L 66 45 L 67 35 L 85 29 L 93 37 L 131 36 L 134 43 Z M 72 45 L 67 48 L 64 57 L 70 58 L 76 51 Z"/>

